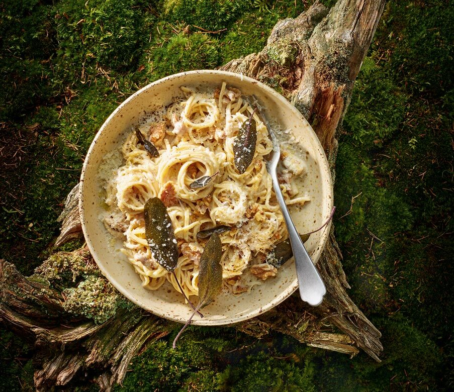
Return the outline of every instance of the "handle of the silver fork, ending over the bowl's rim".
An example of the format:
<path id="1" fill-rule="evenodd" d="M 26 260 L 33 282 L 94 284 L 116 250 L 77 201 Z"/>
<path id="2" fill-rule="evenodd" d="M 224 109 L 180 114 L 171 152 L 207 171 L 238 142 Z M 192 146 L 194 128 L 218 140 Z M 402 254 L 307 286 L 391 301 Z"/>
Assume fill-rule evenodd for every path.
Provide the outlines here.
<path id="1" fill-rule="evenodd" d="M 282 195 L 281 187 L 279 186 L 276 171 L 271 174 L 271 178 L 273 180 L 273 188 L 289 232 L 293 255 L 295 256 L 296 274 L 298 276 L 301 299 L 312 306 L 320 305 L 323 300 L 323 296 L 326 294 L 325 284 L 323 283 L 317 268 L 315 268 L 311 257 L 307 253 L 303 241 L 301 240 L 295 224 L 293 223 L 289 209 L 287 208 Z"/>

